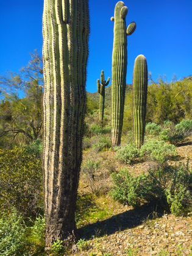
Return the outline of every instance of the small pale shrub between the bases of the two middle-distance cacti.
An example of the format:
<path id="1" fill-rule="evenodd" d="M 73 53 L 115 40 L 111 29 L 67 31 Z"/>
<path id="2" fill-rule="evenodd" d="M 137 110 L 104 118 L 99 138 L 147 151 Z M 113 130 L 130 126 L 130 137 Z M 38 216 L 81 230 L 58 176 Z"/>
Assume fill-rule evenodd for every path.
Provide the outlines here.
<path id="1" fill-rule="evenodd" d="M 139 156 L 139 149 L 134 143 L 127 144 L 121 147 L 116 152 L 116 159 L 123 161 L 124 163 L 132 163 L 135 158 Z"/>

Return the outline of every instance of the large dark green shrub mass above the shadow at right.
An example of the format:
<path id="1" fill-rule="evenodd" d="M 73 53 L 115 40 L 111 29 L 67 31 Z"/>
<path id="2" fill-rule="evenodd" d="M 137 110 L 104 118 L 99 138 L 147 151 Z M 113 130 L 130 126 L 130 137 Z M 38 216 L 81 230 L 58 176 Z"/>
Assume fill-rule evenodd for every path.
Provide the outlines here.
<path id="1" fill-rule="evenodd" d="M 112 196 L 123 204 L 135 206 L 144 200 L 158 203 L 176 216 L 191 212 L 192 172 L 188 165 L 158 166 L 137 177 L 121 170 L 112 178 Z"/>

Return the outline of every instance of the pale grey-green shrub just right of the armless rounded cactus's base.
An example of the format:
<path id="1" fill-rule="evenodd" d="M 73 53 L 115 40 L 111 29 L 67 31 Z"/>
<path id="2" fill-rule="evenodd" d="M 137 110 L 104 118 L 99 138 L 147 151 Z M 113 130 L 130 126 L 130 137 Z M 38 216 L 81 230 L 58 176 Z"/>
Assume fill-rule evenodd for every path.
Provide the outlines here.
<path id="1" fill-rule="evenodd" d="M 176 147 L 172 144 L 167 144 L 162 140 L 151 139 L 141 146 L 140 155 L 149 157 L 158 163 L 165 163 L 167 160 L 177 156 Z"/>

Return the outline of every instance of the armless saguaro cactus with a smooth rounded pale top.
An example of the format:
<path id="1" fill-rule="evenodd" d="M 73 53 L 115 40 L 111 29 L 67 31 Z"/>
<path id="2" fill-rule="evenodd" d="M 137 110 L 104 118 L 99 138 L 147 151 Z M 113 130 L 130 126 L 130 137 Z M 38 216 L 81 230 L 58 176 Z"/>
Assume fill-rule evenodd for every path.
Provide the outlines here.
<path id="1" fill-rule="evenodd" d="M 138 55 L 133 68 L 133 126 L 135 144 L 140 148 L 144 140 L 148 92 L 148 65 L 143 55 Z"/>

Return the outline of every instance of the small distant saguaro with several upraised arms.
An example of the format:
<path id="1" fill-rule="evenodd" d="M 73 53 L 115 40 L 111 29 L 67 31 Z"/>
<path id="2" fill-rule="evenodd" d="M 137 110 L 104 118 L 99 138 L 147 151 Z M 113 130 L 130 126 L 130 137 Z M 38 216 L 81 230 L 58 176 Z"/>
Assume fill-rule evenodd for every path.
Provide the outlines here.
<path id="1" fill-rule="evenodd" d="M 110 81 L 110 77 L 107 78 L 107 82 L 104 78 L 104 71 L 101 71 L 101 84 L 99 82 L 99 79 L 97 80 L 98 84 L 98 93 L 99 93 L 99 120 L 103 121 L 104 119 L 104 105 L 105 105 L 105 86 L 108 85 Z"/>

